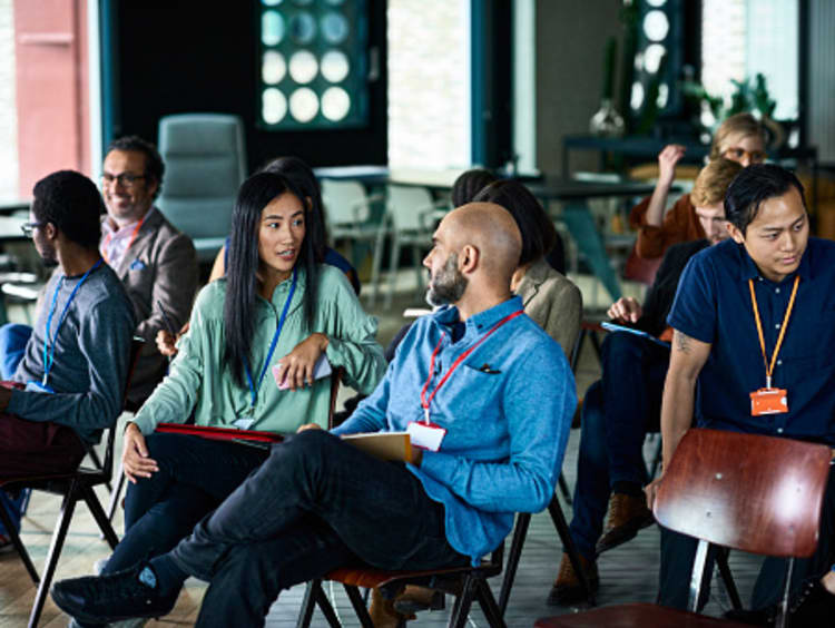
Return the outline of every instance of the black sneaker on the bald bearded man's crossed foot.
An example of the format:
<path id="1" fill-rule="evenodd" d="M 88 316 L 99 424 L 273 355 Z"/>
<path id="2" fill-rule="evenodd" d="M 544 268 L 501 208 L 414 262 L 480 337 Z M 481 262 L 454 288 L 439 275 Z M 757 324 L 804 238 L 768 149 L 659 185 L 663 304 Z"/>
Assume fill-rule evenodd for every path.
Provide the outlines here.
<path id="1" fill-rule="evenodd" d="M 107 576 L 70 578 L 52 585 L 52 599 L 79 622 L 118 621 L 134 617 L 163 617 L 177 601 L 179 590 L 160 595 L 149 563 Z"/>

